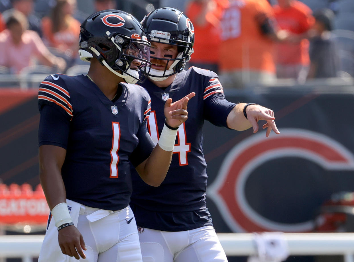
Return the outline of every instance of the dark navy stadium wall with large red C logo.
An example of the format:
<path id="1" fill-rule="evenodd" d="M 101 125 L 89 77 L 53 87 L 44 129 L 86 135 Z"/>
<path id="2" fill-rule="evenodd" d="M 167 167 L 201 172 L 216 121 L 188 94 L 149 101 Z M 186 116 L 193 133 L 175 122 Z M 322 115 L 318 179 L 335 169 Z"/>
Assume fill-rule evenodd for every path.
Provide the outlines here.
<path id="1" fill-rule="evenodd" d="M 273 109 L 281 134 L 266 138 L 263 122 L 257 134 L 205 122 L 207 205 L 218 233 L 314 232 L 321 205 L 354 191 L 353 87 L 324 89 L 225 91 L 230 101 Z M 0 89 L 0 180 L 36 187 L 36 91 L 15 91 Z"/>

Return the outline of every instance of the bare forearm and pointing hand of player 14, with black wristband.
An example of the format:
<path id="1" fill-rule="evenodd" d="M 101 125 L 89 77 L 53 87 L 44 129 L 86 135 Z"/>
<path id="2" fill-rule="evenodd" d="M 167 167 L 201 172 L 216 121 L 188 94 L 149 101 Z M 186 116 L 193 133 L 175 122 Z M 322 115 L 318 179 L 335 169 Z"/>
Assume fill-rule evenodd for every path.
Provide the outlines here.
<path id="1" fill-rule="evenodd" d="M 270 132 L 273 130 L 275 134 L 280 134 L 274 122 L 273 110 L 261 105 L 249 105 L 246 107 L 246 116 L 244 115 L 244 107 L 246 103 L 239 103 L 235 105 L 233 110 L 227 117 L 227 126 L 235 130 L 246 130 L 250 127 L 253 128 L 253 133 L 257 133 L 259 120 L 265 120 L 267 123 L 263 125 L 263 129 L 267 128 L 265 136 L 269 137 Z"/>

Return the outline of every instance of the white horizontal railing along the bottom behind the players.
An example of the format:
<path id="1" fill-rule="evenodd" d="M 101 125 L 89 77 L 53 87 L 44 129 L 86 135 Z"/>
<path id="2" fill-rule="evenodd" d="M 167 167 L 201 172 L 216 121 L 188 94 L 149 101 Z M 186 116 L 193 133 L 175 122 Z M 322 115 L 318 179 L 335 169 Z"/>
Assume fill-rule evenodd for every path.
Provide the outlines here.
<path id="1" fill-rule="evenodd" d="M 290 255 L 343 255 L 354 262 L 354 233 L 284 233 Z M 228 256 L 256 255 L 252 233 L 219 233 Z M 21 257 L 23 262 L 38 257 L 44 235 L 0 236 L 0 257 Z"/>

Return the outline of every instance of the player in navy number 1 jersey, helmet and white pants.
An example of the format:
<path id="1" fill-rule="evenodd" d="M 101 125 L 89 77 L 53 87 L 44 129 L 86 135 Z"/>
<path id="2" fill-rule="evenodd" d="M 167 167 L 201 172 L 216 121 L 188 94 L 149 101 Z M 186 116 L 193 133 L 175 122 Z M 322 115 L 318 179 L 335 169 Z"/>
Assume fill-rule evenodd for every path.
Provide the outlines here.
<path id="1" fill-rule="evenodd" d="M 130 14 L 97 12 L 81 25 L 79 53 L 90 61 L 88 74 L 55 74 L 41 83 L 40 180 L 51 215 L 39 261 L 142 261 L 129 207 L 130 163 L 147 184 L 161 184 L 194 95 L 166 101 L 155 146 L 146 126 L 150 96 L 133 85 L 138 69 L 150 65 L 149 46 Z"/>

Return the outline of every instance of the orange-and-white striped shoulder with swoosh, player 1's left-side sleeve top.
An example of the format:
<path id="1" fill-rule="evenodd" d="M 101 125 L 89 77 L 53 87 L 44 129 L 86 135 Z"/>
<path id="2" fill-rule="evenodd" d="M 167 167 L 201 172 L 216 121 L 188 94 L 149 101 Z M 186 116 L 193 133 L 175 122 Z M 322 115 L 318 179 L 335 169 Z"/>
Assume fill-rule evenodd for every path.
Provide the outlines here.
<path id="1" fill-rule="evenodd" d="M 69 116 L 73 116 L 73 107 L 70 103 L 70 77 L 62 74 L 47 76 L 39 85 L 38 105 L 41 108 L 44 104 L 57 106 L 64 110 Z"/>

